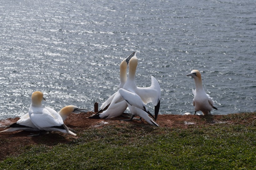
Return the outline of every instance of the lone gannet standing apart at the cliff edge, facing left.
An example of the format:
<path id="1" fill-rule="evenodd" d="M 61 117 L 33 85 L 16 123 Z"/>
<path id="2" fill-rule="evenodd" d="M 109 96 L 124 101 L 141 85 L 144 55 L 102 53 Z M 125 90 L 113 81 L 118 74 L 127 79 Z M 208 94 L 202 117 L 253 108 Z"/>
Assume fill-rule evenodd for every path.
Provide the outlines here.
<path id="1" fill-rule="evenodd" d="M 209 115 L 213 108 L 217 110 L 217 108 L 213 106 L 213 101 L 209 94 L 206 94 L 204 91 L 200 72 L 198 70 L 192 70 L 187 76 L 193 77 L 195 81 L 195 90 L 192 89 L 194 94 L 193 105 L 195 113 L 197 111 L 202 111 L 204 115 Z"/>

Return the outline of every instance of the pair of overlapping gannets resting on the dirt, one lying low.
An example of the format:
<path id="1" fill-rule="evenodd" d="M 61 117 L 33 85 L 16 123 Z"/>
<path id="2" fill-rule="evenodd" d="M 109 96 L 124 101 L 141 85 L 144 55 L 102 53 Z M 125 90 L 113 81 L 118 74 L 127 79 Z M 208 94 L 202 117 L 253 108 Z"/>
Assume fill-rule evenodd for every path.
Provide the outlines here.
<path id="1" fill-rule="evenodd" d="M 67 128 L 63 123 L 66 117 L 71 113 L 88 112 L 87 109 L 78 108 L 73 105 L 63 107 L 58 113 L 49 107 L 42 106 L 42 100 L 45 100 L 42 92 L 34 92 L 32 94 L 32 104 L 29 108 L 29 113 L 21 116 L 20 119 L 11 125 L 2 126 L 1 128 L 10 127 L 10 129 L 3 130 L 1 132 L 12 132 L 16 130 L 26 130 L 26 131 L 61 131 L 64 133 L 69 133 L 71 135 L 76 135 Z M 34 116 L 34 114 L 37 114 Z M 33 118 L 30 116 L 33 115 Z M 60 125 L 61 124 L 61 125 Z M 59 127 L 58 127 L 59 126 Z"/>

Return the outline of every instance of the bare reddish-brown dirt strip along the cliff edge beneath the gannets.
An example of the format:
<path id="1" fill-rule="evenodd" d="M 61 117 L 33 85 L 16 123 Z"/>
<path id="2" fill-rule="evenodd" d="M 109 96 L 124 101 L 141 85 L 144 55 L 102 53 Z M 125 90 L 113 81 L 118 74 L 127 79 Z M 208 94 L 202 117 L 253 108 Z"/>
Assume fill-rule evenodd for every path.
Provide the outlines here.
<path id="1" fill-rule="evenodd" d="M 3 160 L 6 156 L 20 154 L 20 150 L 23 147 L 37 144 L 46 144 L 48 146 L 53 146 L 59 143 L 65 144 L 72 141 L 73 139 L 79 138 L 79 134 L 82 133 L 82 131 L 85 129 L 115 124 L 120 125 L 120 119 L 124 119 L 121 116 L 111 119 L 88 119 L 87 117 L 91 114 L 93 114 L 93 112 L 71 114 L 64 121 L 64 123 L 68 127 L 73 128 L 77 131 L 77 136 L 68 135 L 61 132 L 50 132 L 49 134 L 47 134 L 47 138 L 45 138 L 45 135 L 28 137 L 27 135 L 30 135 L 31 132 L 27 131 L 0 133 L 0 161 Z M 251 124 L 256 120 L 256 117 L 254 115 L 252 115 L 249 120 L 244 120 L 241 122 L 237 122 L 235 120 L 223 121 L 222 117 L 223 115 L 159 115 L 156 123 L 160 125 L 160 127 L 189 128 L 191 126 L 212 125 L 216 123 Z M 9 125 L 16 122 L 17 120 L 19 120 L 19 118 L 0 120 L 0 126 Z M 104 122 L 108 123 L 104 124 Z M 134 120 L 129 122 L 123 121 L 122 123 L 148 124 L 145 120 Z M 3 128 L 0 128 L 0 131 L 2 130 Z"/>

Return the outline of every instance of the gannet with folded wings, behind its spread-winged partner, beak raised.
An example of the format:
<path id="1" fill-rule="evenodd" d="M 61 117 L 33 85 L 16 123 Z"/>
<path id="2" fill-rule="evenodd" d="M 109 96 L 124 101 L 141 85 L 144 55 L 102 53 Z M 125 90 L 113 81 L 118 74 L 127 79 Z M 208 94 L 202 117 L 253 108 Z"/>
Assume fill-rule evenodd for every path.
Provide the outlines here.
<path id="1" fill-rule="evenodd" d="M 136 52 L 130 54 L 129 57 L 124 59 L 120 64 L 120 84 L 119 89 L 122 88 L 127 80 L 126 70 L 127 66 L 132 57 L 136 56 Z M 119 90 L 118 89 L 118 90 Z M 119 91 L 114 93 L 111 97 L 109 97 L 106 102 L 101 105 L 101 110 L 98 111 L 94 116 L 90 116 L 89 118 L 112 118 L 120 116 L 124 113 L 127 108 L 126 101 L 121 97 Z"/>

